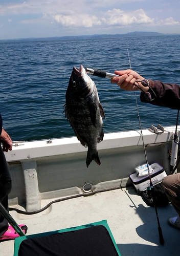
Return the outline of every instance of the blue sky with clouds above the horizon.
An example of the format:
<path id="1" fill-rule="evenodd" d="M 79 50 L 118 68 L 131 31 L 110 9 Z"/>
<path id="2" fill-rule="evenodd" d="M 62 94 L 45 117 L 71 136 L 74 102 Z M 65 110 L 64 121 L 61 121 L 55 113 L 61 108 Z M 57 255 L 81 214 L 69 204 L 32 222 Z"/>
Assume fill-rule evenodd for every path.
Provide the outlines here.
<path id="1" fill-rule="evenodd" d="M 0 0 L 0 39 L 180 34 L 180 0 Z"/>

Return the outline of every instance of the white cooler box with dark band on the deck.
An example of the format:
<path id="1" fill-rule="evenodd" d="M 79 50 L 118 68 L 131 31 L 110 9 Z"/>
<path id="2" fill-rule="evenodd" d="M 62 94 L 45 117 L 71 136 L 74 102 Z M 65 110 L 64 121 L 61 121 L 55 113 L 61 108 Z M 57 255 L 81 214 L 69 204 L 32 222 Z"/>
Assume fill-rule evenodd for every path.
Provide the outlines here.
<path id="1" fill-rule="evenodd" d="M 151 173 L 151 180 L 152 184 L 156 185 L 160 182 L 162 182 L 162 179 L 167 176 L 163 166 L 161 166 L 159 163 L 153 163 L 150 165 L 153 169 L 153 173 Z M 139 177 L 137 176 L 137 172 L 129 175 L 134 187 L 137 189 L 137 191 L 144 191 L 150 186 L 149 181 L 149 175 Z"/>

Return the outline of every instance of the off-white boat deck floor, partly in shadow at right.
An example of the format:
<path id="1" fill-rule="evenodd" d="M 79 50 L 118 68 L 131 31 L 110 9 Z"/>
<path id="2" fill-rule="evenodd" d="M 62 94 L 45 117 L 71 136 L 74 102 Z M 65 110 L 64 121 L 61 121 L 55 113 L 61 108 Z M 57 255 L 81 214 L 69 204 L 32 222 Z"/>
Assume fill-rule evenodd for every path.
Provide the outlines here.
<path id="1" fill-rule="evenodd" d="M 44 200 L 42 206 L 49 202 Z M 107 220 L 122 256 L 176 256 L 180 251 L 180 231 L 167 223 L 168 217 L 176 216 L 172 205 L 158 207 L 165 241 L 165 244 L 161 245 L 155 209 L 147 206 L 133 187 L 54 203 L 43 212 L 31 216 L 17 214 L 16 211 L 10 211 L 10 214 L 18 224 L 23 223 L 28 226 L 27 234 Z M 1 255 L 13 255 L 13 246 L 14 241 L 1 242 Z"/>

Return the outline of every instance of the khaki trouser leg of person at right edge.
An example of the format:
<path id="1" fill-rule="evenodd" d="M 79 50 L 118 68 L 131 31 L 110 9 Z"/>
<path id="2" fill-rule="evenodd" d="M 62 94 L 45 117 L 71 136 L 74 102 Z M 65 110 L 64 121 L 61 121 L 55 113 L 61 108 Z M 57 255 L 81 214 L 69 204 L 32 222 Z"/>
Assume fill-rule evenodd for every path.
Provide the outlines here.
<path id="1" fill-rule="evenodd" d="M 180 173 L 164 177 L 162 185 L 169 201 L 180 216 Z"/>

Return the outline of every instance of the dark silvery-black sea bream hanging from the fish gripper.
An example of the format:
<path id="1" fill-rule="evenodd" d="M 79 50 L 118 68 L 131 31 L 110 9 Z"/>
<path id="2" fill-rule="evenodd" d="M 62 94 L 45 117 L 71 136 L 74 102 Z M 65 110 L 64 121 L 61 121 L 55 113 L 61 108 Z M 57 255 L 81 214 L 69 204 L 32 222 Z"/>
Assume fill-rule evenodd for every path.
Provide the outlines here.
<path id="1" fill-rule="evenodd" d="M 97 143 L 104 137 L 102 117 L 105 118 L 105 115 L 96 84 L 82 65 L 80 69 L 73 68 L 65 98 L 65 117 L 70 121 L 81 144 L 88 147 L 87 167 L 93 160 L 100 165 Z"/>

